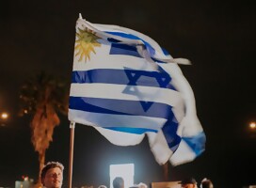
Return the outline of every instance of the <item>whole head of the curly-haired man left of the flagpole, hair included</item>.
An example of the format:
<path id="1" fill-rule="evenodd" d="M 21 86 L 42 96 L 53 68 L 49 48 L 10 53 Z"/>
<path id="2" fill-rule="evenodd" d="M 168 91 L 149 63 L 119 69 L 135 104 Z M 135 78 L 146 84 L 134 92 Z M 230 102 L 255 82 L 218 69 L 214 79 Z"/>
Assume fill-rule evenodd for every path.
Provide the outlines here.
<path id="1" fill-rule="evenodd" d="M 40 180 L 44 187 L 60 188 L 63 180 L 63 164 L 49 162 L 43 166 L 40 172 Z"/>

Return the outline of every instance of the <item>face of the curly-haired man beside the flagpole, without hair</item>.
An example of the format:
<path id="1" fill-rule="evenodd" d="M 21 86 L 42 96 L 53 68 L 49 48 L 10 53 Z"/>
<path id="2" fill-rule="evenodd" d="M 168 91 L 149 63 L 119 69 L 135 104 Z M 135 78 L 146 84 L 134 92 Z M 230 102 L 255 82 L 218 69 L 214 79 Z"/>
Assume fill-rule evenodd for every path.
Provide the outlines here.
<path id="1" fill-rule="evenodd" d="M 60 188 L 62 185 L 62 171 L 59 167 L 50 168 L 45 174 L 42 183 L 47 188 Z"/>

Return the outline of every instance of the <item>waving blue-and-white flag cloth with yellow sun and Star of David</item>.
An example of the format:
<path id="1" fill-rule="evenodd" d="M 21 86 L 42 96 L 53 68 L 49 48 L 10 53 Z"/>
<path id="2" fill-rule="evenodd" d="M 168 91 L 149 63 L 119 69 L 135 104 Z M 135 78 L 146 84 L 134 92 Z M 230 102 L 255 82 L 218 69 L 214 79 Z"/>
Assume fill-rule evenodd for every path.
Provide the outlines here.
<path id="1" fill-rule="evenodd" d="M 146 133 L 159 164 L 192 161 L 205 135 L 177 63 L 189 62 L 141 33 L 78 19 L 69 119 L 119 146 L 136 145 Z"/>

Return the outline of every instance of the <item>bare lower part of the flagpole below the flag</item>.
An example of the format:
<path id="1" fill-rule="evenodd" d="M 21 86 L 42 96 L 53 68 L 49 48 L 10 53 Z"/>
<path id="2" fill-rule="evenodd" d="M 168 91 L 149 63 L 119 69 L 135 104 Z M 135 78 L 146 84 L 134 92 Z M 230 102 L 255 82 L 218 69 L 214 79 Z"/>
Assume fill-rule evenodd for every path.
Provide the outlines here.
<path id="1" fill-rule="evenodd" d="M 70 166 L 69 166 L 69 188 L 72 188 L 72 158 L 73 158 L 73 139 L 75 122 L 71 121 L 71 139 L 70 139 Z"/>

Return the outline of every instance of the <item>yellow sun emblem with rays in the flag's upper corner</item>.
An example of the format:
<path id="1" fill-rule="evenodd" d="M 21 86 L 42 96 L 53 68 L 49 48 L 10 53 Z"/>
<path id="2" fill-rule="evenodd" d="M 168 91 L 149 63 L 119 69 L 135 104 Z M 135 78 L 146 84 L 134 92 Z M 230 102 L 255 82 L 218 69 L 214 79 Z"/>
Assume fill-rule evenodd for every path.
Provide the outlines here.
<path id="1" fill-rule="evenodd" d="M 78 28 L 76 32 L 77 39 L 75 40 L 74 51 L 77 51 L 75 56 L 79 56 L 78 61 L 82 61 L 85 57 L 85 62 L 90 60 L 90 53 L 96 54 L 94 47 L 100 47 L 101 44 L 97 41 L 100 39 L 95 33 L 88 28 L 82 30 Z"/>

